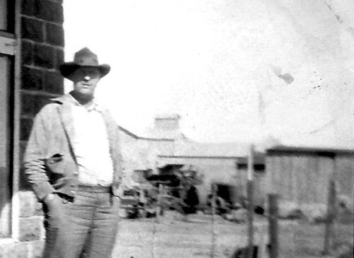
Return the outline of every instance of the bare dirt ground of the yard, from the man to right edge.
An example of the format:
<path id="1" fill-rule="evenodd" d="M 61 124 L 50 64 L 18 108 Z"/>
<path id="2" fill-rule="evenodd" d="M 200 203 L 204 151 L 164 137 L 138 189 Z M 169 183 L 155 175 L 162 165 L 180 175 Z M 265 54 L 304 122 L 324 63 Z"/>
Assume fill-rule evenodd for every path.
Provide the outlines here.
<path id="1" fill-rule="evenodd" d="M 233 223 L 219 216 L 215 217 L 213 227 L 212 216 L 205 214 L 190 215 L 187 221 L 178 213 L 166 214 L 159 221 L 154 218 L 122 219 L 113 257 L 232 257 L 236 248 L 246 246 L 247 227 L 247 223 Z M 261 245 L 268 242 L 267 220 L 256 217 L 254 228 L 255 242 Z M 334 257 L 321 254 L 323 225 L 280 221 L 279 229 L 279 257 Z M 339 235 L 341 242 L 351 242 L 353 245 L 353 229 L 350 226 L 346 226 Z"/>

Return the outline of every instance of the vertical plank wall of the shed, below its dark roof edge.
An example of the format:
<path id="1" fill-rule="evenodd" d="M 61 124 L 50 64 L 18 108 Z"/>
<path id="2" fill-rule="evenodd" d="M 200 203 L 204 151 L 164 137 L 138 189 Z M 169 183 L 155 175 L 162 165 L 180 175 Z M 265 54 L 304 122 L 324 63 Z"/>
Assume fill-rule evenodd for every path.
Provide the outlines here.
<path id="1" fill-rule="evenodd" d="M 295 204 L 326 203 L 334 162 L 340 184 L 348 184 L 348 178 L 353 178 L 353 159 L 350 163 L 348 158 L 334 161 L 316 153 L 270 153 L 266 158 L 266 192 L 278 193 L 283 201 Z M 349 192 L 348 186 L 344 188 Z"/>

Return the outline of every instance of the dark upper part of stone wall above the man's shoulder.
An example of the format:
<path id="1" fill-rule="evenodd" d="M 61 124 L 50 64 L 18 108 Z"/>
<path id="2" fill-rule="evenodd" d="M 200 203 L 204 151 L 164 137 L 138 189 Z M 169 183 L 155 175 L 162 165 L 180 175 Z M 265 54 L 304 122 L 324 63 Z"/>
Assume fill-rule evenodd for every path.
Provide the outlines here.
<path id="1" fill-rule="evenodd" d="M 58 70 L 64 61 L 64 15 L 62 0 L 25 0 L 21 8 L 21 141 L 26 141 L 33 116 L 64 92 Z"/>

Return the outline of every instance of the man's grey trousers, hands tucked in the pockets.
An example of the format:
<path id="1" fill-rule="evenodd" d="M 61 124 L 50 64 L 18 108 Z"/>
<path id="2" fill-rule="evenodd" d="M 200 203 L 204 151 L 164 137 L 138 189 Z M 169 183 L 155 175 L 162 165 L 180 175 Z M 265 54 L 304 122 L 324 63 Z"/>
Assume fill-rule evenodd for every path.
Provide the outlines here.
<path id="1" fill-rule="evenodd" d="M 45 211 L 43 258 L 109 258 L 119 221 L 119 199 L 108 192 L 78 191 L 74 201 L 56 196 Z"/>

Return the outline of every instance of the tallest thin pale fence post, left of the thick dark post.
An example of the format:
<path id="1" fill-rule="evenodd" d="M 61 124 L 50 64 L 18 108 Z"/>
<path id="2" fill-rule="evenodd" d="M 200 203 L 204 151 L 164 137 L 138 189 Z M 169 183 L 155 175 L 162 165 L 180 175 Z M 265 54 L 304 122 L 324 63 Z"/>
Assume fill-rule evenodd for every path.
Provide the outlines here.
<path id="1" fill-rule="evenodd" d="M 247 209 L 248 209 L 248 225 L 249 225 L 249 242 L 247 248 L 247 257 L 253 257 L 253 144 L 249 148 L 248 172 L 247 172 Z"/>

